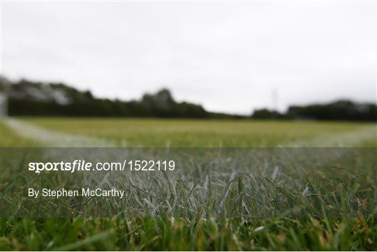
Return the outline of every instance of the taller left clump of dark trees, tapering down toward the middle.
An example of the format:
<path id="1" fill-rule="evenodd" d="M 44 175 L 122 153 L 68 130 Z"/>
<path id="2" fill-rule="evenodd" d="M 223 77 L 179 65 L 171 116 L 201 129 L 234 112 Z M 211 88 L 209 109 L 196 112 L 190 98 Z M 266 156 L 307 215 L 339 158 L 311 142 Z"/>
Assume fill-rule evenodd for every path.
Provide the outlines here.
<path id="1" fill-rule="evenodd" d="M 8 91 L 10 116 L 212 117 L 200 105 L 176 102 L 168 89 L 145 94 L 141 101 L 112 101 L 61 83 L 20 80 L 6 85 L 2 81 L 1 87 Z"/>

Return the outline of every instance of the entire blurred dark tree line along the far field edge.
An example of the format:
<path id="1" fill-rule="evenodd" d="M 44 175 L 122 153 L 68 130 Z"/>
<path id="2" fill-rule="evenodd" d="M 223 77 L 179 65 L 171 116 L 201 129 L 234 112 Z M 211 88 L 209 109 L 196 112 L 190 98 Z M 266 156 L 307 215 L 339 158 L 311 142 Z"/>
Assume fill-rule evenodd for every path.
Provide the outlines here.
<path id="1" fill-rule="evenodd" d="M 0 78 L 0 91 L 8 96 L 10 116 L 66 117 L 166 117 L 166 118 L 253 118 L 377 121 L 376 103 L 341 100 L 325 104 L 290 106 L 286 112 L 266 108 L 250 116 L 208 112 L 201 105 L 177 102 L 168 89 L 145 94 L 139 100 L 120 101 L 96 98 L 63 83 L 29 80 L 10 82 Z"/>

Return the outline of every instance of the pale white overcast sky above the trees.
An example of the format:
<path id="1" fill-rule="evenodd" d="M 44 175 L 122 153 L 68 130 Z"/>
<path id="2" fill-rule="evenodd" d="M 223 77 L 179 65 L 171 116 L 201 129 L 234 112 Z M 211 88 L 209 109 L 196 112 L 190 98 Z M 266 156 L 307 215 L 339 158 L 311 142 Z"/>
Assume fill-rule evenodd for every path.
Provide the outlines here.
<path id="1" fill-rule="evenodd" d="M 2 73 L 128 100 L 255 108 L 376 102 L 376 3 L 3 2 Z M 273 98 L 275 97 L 275 98 Z"/>

